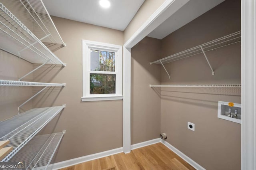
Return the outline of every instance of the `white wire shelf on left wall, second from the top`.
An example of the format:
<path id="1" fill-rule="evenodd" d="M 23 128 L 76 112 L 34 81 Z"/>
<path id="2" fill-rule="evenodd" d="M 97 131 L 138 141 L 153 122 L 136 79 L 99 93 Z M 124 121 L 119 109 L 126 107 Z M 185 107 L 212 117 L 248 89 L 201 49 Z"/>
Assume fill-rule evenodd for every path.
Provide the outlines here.
<path id="1" fill-rule="evenodd" d="M 64 64 L 18 18 L 0 3 L 0 49 L 30 63 Z"/>

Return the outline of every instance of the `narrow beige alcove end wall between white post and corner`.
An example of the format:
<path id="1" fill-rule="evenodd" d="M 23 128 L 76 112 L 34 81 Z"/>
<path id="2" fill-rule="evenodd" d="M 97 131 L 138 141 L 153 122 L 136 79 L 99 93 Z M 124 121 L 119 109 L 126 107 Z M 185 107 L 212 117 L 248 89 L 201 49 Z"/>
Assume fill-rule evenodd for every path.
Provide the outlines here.
<path id="1" fill-rule="evenodd" d="M 160 65 L 150 65 L 160 53 L 161 40 L 146 37 L 132 48 L 131 143 L 160 135 L 160 94 L 149 87 L 160 83 Z"/>

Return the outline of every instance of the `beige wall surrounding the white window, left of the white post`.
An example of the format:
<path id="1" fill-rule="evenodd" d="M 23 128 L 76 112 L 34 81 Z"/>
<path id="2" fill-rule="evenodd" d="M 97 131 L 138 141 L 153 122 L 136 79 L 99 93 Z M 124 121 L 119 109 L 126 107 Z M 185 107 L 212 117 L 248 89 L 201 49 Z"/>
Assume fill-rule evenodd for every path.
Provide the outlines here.
<path id="1" fill-rule="evenodd" d="M 63 18 L 52 19 L 67 43 L 54 53 L 67 66 L 45 65 L 33 74 L 34 81 L 67 83 L 66 87 L 51 88 L 33 100 L 34 108 L 66 104 L 61 115 L 41 132 L 67 131 L 52 162 L 122 147 L 122 100 L 81 102 L 81 97 L 82 40 L 123 45 L 123 32 Z"/>

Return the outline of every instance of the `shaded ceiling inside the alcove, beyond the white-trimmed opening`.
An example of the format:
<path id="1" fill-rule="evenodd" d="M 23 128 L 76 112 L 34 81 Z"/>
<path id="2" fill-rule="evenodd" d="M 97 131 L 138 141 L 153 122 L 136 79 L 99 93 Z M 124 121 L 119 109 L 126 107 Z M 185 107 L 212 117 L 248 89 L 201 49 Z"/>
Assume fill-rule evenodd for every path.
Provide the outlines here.
<path id="1" fill-rule="evenodd" d="M 223 1 L 224 0 L 190 0 L 148 34 L 148 37 L 162 39 Z"/>

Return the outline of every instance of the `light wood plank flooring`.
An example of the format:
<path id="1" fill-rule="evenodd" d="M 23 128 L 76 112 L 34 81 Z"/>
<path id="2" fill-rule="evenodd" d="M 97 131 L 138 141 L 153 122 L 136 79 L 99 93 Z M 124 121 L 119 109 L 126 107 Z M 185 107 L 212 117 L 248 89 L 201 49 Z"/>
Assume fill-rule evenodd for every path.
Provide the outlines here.
<path id="1" fill-rule="evenodd" d="M 61 170 L 194 170 L 162 143 L 84 162 Z"/>

